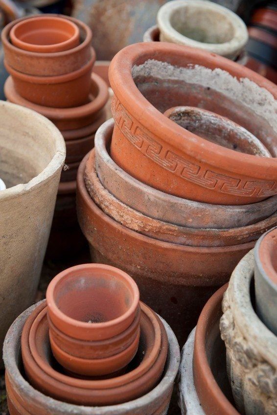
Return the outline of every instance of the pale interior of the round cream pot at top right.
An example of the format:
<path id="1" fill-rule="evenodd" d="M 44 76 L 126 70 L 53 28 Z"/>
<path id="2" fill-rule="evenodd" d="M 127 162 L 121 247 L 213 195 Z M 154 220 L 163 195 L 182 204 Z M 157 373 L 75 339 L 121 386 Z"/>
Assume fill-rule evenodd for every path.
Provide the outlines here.
<path id="1" fill-rule="evenodd" d="M 197 42 L 222 44 L 231 41 L 234 28 L 231 19 L 202 5 L 183 5 L 170 15 L 171 26 L 181 35 Z"/>

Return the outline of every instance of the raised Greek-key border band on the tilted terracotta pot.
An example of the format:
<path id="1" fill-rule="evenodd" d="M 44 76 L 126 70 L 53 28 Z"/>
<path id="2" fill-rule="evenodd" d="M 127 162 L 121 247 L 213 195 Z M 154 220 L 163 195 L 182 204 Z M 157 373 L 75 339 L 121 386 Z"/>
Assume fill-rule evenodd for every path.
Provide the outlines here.
<path id="1" fill-rule="evenodd" d="M 162 147 L 151 137 L 149 131 L 142 129 L 136 123 L 115 95 L 112 99 L 112 113 L 117 127 L 130 143 L 144 156 L 176 176 L 200 186 L 236 196 L 269 197 L 277 193 L 277 182 L 247 181 L 219 174 Z"/>

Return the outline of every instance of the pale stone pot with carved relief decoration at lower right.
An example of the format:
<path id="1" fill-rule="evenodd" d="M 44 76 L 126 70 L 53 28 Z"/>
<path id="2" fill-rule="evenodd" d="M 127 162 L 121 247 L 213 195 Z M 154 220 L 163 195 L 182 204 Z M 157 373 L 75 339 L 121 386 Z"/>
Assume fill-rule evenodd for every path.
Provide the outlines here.
<path id="1" fill-rule="evenodd" d="M 241 414 L 276 414 L 277 337 L 254 311 L 254 253 L 234 269 L 223 300 L 221 337 L 227 370 Z"/>

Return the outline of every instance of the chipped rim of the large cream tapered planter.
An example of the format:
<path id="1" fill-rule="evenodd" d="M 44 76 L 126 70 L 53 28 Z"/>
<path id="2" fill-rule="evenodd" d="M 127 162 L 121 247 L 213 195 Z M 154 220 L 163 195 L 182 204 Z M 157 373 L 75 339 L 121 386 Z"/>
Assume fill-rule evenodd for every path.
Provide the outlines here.
<path id="1" fill-rule="evenodd" d="M 31 191 L 34 187 L 37 187 L 43 183 L 46 183 L 54 173 L 59 170 L 66 157 L 66 145 L 64 138 L 58 128 L 45 116 L 37 114 L 35 111 L 29 108 L 22 107 L 11 102 L 0 101 L 0 109 L 6 109 L 14 114 L 14 117 L 36 119 L 40 122 L 41 127 L 46 127 L 53 137 L 55 137 L 55 154 L 49 161 L 47 166 L 36 177 L 33 177 L 28 183 L 16 184 L 0 192 L 0 200 L 17 197 L 23 193 Z"/>

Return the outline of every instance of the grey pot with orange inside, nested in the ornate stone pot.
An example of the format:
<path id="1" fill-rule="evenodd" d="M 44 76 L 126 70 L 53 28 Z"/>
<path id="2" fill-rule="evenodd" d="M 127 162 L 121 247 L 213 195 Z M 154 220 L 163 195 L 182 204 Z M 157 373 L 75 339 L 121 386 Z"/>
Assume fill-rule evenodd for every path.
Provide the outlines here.
<path id="1" fill-rule="evenodd" d="M 256 313 L 265 325 L 277 335 L 277 227 L 266 232 L 257 241 L 255 257 Z"/>

